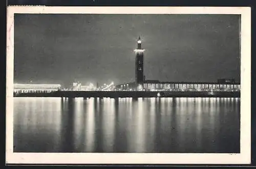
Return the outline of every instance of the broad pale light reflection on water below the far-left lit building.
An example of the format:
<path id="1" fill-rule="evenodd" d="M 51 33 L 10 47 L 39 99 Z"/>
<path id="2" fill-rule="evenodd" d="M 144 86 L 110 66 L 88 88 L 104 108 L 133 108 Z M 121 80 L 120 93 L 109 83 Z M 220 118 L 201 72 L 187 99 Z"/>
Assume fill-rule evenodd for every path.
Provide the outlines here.
<path id="1" fill-rule="evenodd" d="M 18 107 L 14 109 L 14 151 L 52 152 L 59 149 L 60 98 L 38 99 L 15 99 L 15 107 Z M 42 108 L 45 105 L 48 105 L 47 111 Z"/>

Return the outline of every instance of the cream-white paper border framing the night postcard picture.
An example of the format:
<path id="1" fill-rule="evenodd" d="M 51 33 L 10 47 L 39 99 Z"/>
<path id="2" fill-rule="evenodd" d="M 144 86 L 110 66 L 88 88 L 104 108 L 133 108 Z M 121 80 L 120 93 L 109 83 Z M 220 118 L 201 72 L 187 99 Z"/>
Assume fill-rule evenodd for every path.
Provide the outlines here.
<path id="1" fill-rule="evenodd" d="M 241 153 L 13 153 L 14 13 L 241 14 Z M 251 160 L 250 7 L 7 7 L 6 163 L 11 164 L 249 164 Z"/>

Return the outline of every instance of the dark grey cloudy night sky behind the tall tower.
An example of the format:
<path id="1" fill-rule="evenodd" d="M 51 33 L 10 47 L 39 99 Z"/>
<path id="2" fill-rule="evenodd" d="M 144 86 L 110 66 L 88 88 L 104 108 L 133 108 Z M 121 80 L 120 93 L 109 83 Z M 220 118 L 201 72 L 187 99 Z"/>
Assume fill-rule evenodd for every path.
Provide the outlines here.
<path id="1" fill-rule="evenodd" d="M 239 15 L 15 14 L 14 82 L 240 81 Z"/>

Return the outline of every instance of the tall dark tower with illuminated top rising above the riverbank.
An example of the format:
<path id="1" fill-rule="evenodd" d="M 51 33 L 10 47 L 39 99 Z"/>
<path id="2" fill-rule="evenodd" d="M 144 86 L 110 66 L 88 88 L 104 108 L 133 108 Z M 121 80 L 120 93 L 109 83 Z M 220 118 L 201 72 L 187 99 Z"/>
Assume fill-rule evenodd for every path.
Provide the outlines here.
<path id="1" fill-rule="evenodd" d="M 141 48 L 141 39 L 137 40 L 137 49 L 134 50 L 136 52 L 135 59 L 135 85 L 136 90 L 143 90 L 143 52 L 144 49 Z"/>

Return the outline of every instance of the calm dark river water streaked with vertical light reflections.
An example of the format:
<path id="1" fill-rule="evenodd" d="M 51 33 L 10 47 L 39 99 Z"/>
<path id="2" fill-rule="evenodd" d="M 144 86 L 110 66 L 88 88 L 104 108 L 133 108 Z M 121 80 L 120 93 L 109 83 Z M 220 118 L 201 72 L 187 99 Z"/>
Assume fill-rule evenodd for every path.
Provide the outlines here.
<path id="1" fill-rule="evenodd" d="M 14 98 L 14 152 L 239 153 L 240 98 Z"/>

